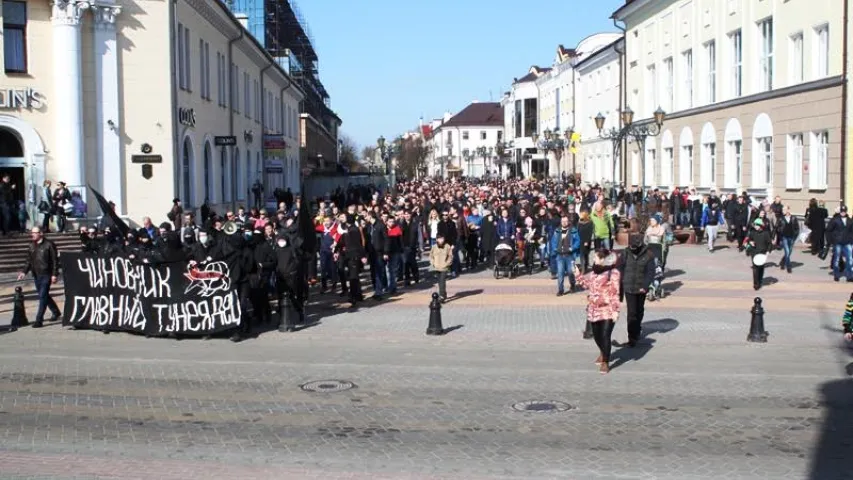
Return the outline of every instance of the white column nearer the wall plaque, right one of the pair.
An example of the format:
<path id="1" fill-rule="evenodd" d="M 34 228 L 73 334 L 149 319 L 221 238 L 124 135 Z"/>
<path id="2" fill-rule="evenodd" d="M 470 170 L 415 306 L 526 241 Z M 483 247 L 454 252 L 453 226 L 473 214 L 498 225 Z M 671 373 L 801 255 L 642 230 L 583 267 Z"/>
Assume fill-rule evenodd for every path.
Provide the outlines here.
<path id="1" fill-rule="evenodd" d="M 98 189 L 116 205 L 124 208 L 124 177 L 122 175 L 121 131 L 118 83 L 118 52 L 116 47 L 116 17 L 121 7 L 92 5 L 95 17 L 95 152 L 98 164 Z"/>

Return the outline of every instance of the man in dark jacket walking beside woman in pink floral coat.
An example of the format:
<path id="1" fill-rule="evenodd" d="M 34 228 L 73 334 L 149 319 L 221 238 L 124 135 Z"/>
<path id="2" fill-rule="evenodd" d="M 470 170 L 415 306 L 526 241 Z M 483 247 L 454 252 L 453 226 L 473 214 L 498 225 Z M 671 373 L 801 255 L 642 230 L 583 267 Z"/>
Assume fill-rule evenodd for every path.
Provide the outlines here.
<path id="1" fill-rule="evenodd" d="M 628 313 L 628 346 L 637 345 L 646 308 L 646 293 L 655 279 L 657 260 L 643 236 L 632 233 L 622 258 L 622 294 Z"/>

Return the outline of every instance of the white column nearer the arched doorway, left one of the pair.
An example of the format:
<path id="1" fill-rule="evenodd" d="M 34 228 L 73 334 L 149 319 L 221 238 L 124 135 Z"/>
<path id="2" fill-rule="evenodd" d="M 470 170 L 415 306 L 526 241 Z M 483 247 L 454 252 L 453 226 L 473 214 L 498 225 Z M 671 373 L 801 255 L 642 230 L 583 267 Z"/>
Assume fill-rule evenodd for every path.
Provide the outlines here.
<path id="1" fill-rule="evenodd" d="M 55 180 L 69 187 L 86 184 L 83 161 L 83 76 L 80 57 L 80 19 L 90 4 L 84 0 L 53 0 L 53 68 L 56 91 L 51 108 L 56 119 Z"/>

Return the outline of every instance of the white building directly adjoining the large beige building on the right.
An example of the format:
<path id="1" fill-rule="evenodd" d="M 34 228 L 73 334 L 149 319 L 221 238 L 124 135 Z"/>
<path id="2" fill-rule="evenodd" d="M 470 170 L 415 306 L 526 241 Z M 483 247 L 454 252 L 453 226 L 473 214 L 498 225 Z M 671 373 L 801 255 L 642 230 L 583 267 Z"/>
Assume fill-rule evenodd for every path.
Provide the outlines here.
<path id="1" fill-rule="evenodd" d="M 612 39 L 612 35 L 595 35 L 578 45 L 591 53 L 584 55 L 575 65 L 577 75 L 575 108 L 577 117 L 575 131 L 579 132 L 582 144 L 577 153 L 578 164 L 583 165 L 582 178 L 589 182 L 620 182 L 618 149 L 609 139 L 599 136 L 595 117 L 600 113 L 610 127 L 620 127 L 620 115 L 624 107 L 620 101 L 620 62 L 625 51 L 621 35 L 610 44 L 601 46 L 601 40 Z M 594 47 L 590 45 L 595 41 Z"/>

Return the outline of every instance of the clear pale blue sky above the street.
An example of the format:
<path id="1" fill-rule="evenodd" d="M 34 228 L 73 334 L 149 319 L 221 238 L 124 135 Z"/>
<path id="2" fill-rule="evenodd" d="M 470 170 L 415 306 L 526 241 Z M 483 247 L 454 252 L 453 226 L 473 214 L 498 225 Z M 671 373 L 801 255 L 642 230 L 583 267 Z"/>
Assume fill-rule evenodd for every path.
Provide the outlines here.
<path id="1" fill-rule="evenodd" d="M 616 32 L 624 0 L 292 0 L 319 57 L 320 80 L 361 147 L 472 101 L 498 101 L 557 45 Z"/>

